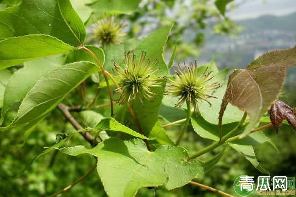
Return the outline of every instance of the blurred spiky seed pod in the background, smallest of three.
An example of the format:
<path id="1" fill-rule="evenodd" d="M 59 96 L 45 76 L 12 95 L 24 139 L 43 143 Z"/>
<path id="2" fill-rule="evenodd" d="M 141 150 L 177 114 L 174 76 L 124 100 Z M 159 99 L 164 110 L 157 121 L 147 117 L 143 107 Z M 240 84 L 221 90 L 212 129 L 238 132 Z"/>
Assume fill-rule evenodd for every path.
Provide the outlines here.
<path id="1" fill-rule="evenodd" d="M 116 23 L 113 16 L 102 18 L 93 29 L 93 37 L 103 46 L 118 44 L 121 42 L 121 37 L 125 35 L 125 33 L 122 33 L 123 28 L 124 25 Z"/>

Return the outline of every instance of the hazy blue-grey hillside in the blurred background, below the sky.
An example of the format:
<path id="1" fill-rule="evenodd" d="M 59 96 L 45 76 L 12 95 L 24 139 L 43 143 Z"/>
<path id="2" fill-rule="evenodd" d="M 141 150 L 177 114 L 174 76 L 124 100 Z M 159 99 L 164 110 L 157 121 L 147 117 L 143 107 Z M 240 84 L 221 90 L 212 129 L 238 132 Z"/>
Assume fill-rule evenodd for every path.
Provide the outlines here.
<path id="1" fill-rule="evenodd" d="M 206 30 L 201 62 L 215 55 L 221 68 L 244 68 L 257 56 L 296 45 L 296 12 L 286 16 L 260 16 L 237 21 L 244 30 L 237 37 L 214 35 Z"/>

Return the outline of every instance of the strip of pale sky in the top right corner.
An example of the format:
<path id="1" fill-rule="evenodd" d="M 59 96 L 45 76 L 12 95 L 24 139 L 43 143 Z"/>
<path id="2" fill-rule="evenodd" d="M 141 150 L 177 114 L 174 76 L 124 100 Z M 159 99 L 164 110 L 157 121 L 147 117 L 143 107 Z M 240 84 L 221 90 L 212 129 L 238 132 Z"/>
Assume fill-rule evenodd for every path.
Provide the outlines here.
<path id="1" fill-rule="evenodd" d="M 234 20 L 256 18 L 261 15 L 286 15 L 296 11 L 296 0 L 235 0 L 243 2 L 227 16 Z"/>

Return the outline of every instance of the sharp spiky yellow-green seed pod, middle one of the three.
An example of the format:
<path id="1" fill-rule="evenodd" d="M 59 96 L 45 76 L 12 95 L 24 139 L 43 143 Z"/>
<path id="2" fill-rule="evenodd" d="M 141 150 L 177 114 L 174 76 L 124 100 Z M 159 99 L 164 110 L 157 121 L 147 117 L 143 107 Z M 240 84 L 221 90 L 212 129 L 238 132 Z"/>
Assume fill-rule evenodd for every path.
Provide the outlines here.
<path id="1" fill-rule="evenodd" d="M 125 53 L 124 69 L 116 62 L 115 78 L 119 82 L 119 88 L 115 92 L 120 92 L 119 103 L 127 103 L 135 99 L 143 98 L 152 100 L 155 93 L 152 87 L 162 86 L 161 77 L 155 77 L 154 73 L 158 70 L 153 70 L 158 61 L 151 61 L 145 58 L 146 53 L 142 52 L 140 57 L 136 59 L 135 54 Z"/>

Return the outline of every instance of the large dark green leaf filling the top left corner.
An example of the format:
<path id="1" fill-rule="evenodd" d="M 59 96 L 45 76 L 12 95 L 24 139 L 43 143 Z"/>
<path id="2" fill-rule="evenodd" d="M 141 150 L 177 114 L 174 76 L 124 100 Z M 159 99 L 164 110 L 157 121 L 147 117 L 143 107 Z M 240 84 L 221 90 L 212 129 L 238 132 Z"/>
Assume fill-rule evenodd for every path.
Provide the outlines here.
<path id="1" fill-rule="evenodd" d="M 69 0 L 23 0 L 0 11 L 0 39 L 47 34 L 73 46 L 85 39 L 83 22 Z"/>

